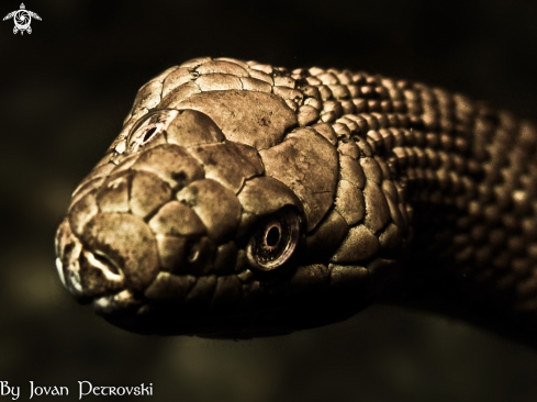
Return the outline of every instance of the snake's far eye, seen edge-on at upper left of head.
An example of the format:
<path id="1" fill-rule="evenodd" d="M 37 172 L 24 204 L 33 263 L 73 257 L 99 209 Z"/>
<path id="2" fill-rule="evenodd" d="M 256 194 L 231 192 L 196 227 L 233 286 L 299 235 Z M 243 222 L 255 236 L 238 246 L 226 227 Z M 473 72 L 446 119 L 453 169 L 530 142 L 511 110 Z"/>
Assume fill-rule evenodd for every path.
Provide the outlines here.
<path id="1" fill-rule="evenodd" d="M 146 144 L 155 139 L 158 134 L 166 131 L 179 111 L 174 109 L 161 109 L 147 113 L 131 130 L 127 138 L 127 149 L 135 153 Z"/>

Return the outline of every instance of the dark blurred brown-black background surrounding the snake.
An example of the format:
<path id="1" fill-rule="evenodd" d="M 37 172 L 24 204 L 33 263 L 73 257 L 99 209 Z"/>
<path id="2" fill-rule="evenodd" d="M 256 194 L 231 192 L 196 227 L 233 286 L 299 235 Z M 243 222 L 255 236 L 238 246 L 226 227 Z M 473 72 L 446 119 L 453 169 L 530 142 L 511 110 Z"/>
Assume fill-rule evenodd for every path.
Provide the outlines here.
<path id="1" fill-rule="evenodd" d="M 2 0 L 0 16 L 19 1 Z M 69 387 L 68 400 L 87 380 L 153 383 L 158 401 L 536 401 L 535 351 L 404 309 L 237 343 L 125 333 L 64 291 L 53 239 L 137 88 L 197 56 L 418 79 L 537 121 L 537 2 L 25 5 L 43 19 L 31 35 L 0 23 L 0 380 L 22 387 L 20 401 L 30 380 Z"/>

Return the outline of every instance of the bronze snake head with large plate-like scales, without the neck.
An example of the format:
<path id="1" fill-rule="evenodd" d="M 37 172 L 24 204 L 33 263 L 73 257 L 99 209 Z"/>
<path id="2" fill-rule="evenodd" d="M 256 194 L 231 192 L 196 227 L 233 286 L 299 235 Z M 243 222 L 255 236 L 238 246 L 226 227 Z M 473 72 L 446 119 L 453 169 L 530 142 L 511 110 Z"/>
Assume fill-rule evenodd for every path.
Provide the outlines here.
<path id="1" fill-rule="evenodd" d="M 208 63 L 144 86 L 75 190 L 56 236 L 64 286 L 139 333 L 244 337 L 355 313 L 370 270 L 348 263 L 374 264 L 379 241 L 337 211 L 334 131 L 299 123 L 276 90 L 244 90 L 253 78 L 211 90 L 215 69 L 235 67 Z"/>

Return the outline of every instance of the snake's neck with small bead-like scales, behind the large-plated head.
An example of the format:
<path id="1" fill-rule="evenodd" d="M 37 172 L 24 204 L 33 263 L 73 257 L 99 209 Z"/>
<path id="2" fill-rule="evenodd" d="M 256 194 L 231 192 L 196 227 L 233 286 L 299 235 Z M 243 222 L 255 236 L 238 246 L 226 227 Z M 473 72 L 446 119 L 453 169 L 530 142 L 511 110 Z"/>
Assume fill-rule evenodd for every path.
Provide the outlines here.
<path id="1" fill-rule="evenodd" d="M 535 126 L 422 83 L 314 72 L 323 80 L 309 78 L 323 98 L 320 120 L 339 148 L 354 139 L 361 160 L 373 158 L 392 180 L 381 187 L 398 193 L 414 234 L 411 277 L 456 278 L 467 293 L 535 320 Z"/>

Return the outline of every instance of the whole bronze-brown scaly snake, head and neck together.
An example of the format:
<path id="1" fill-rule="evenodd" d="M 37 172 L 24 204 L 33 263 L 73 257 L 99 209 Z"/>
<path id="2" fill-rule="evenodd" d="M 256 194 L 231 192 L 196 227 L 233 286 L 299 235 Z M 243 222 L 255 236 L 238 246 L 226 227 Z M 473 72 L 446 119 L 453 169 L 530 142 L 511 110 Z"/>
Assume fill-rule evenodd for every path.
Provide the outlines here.
<path id="1" fill-rule="evenodd" d="M 536 149 L 530 122 L 421 82 L 194 58 L 137 92 L 56 267 L 142 334 L 287 334 L 438 283 L 534 328 Z"/>

